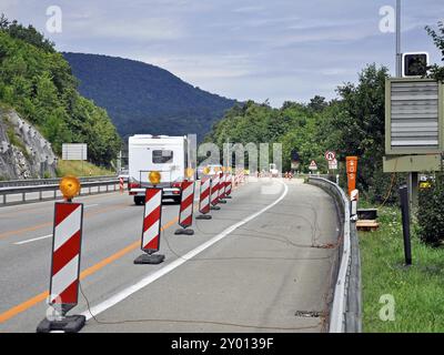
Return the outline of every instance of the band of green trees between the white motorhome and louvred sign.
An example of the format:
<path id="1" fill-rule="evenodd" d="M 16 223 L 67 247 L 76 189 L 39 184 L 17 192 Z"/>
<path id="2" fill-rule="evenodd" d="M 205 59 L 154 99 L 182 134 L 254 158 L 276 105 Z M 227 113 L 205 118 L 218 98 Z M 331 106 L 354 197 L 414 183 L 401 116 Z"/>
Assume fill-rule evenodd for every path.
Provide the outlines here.
<path id="1" fill-rule="evenodd" d="M 339 99 L 330 102 L 316 95 L 307 104 L 289 101 L 280 109 L 252 101 L 238 104 L 213 126 L 206 141 L 282 143 L 284 171 L 290 170 L 293 150 L 305 172 L 312 160 L 326 172 L 327 150 L 335 151 L 339 161 L 359 155 L 359 186 L 370 199 L 382 200 L 391 182 L 382 173 L 386 78 L 386 68 L 371 64 L 360 73 L 357 84 L 339 87 Z"/>

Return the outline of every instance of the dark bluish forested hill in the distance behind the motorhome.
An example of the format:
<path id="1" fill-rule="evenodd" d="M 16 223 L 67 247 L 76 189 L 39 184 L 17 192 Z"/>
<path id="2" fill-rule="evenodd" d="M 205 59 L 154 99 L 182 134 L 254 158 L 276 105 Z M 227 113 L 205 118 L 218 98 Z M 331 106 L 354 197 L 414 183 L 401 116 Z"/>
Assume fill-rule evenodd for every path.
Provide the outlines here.
<path id="1" fill-rule="evenodd" d="M 198 133 L 202 139 L 235 103 L 143 62 L 98 54 L 63 55 L 80 80 L 80 92 L 107 109 L 122 136 Z"/>

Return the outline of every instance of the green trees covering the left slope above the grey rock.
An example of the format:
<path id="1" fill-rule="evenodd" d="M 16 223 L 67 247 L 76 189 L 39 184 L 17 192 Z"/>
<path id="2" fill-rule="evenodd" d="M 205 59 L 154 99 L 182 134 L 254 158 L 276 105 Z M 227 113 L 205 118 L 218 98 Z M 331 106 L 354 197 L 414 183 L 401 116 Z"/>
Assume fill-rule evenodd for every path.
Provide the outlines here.
<path id="1" fill-rule="evenodd" d="M 79 94 L 78 81 L 54 44 L 32 26 L 0 17 L 0 104 L 34 124 L 60 154 L 84 142 L 89 158 L 109 164 L 121 140 L 107 111 Z"/>

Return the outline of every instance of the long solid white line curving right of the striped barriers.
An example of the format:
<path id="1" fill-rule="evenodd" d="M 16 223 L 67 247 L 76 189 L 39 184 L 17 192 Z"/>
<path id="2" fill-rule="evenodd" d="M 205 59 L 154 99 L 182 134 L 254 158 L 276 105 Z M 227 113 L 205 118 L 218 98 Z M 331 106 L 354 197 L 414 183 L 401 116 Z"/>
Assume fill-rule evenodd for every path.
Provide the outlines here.
<path id="1" fill-rule="evenodd" d="M 132 294 L 134 294 L 135 292 L 144 288 L 145 286 L 148 286 L 149 284 L 153 283 L 154 281 L 157 281 L 158 278 L 167 275 L 168 273 L 170 273 L 171 271 L 173 271 L 174 268 L 181 266 L 183 263 L 185 263 L 186 261 L 193 258 L 194 256 L 196 256 L 198 254 L 202 253 L 204 250 L 209 248 L 210 246 L 212 246 L 213 244 L 218 243 L 219 241 L 221 241 L 222 239 L 224 239 L 226 235 L 229 235 L 230 233 L 234 232 L 236 229 L 239 229 L 240 226 L 244 225 L 245 223 L 249 223 L 250 221 L 254 220 L 255 217 L 258 217 L 259 215 L 261 215 L 262 213 L 266 212 L 268 210 L 274 207 L 278 203 L 280 203 L 287 194 L 289 192 L 289 187 L 286 184 L 280 182 L 283 186 L 284 186 L 284 192 L 282 193 L 282 195 L 275 200 L 273 203 L 269 204 L 266 207 L 260 210 L 259 212 L 248 216 L 246 219 L 233 224 L 232 226 L 228 227 L 226 230 L 224 230 L 223 232 L 221 232 L 220 234 L 218 234 L 216 236 L 214 236 L 213 239 L 211 239 L 210 241 L 199 245 L 198 247 L 195 247 L 194 250 L 188 252 L 185 255 L 181 256 L 180 258 L 176 258 L 175 261 L 171 262 L 170 264 L 168 264 L 167 266 L 158 270 L 157 272 L 148 275 L 147 277 L 142 278 L 141 281 L 139 281 L 138 283 L 135 283 L 132 286 L 129 286 L 124 290 L 122 290 L 121 292 L 119 292 L 118 294 L 111 296 L 110 298 L 103 301 L 102 303 L 93 306 L 91 308 L 91 313 L 97 316 L 100 313 L 107 311 L 108 308 L 111 308 L 112 306 L 117 305 L 118 303 L 122 302 L 123 300 L 125 300 L 127 297 L 131 296 Z M 87 320 L 91 320 L 91 314 L 89 311 L 84 311 L 82 313 L 82 315 L 84 315 L 87 317 Z"/>

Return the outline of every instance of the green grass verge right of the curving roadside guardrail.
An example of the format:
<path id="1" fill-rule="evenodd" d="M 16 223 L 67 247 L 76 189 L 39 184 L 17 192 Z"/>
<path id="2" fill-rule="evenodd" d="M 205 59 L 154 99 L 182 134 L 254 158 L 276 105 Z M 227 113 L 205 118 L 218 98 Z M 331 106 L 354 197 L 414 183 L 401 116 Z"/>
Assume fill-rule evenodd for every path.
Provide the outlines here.
<path id="1" fill-rule="evenodd" d="M 379 231 L 360 232 L 363 332 L 444 332 L 444 250 L 421 243 L 412 231 L 413 266 L 404 267 L 398 207 L 383 207 L 379 215 Z M 383 295 L 394 298 L 394 321 L 380 318 Z"/>

